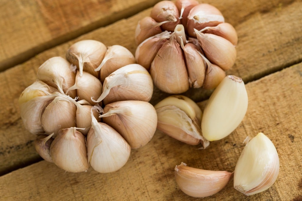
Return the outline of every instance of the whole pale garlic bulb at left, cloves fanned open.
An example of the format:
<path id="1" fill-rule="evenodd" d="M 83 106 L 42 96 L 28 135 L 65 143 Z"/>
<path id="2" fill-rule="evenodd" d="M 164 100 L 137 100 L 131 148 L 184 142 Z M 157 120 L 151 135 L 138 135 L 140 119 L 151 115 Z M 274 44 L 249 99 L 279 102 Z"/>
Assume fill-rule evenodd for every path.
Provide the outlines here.
<path id="1" fill-rule="evenodd" d="M 157 115 L 148 103 L 152 78 L 118 45 L 107 49 L 99 41 L 79 41 L 66 59 L 45 61 L 39 80 L 22 92 L 24 126 L 38 135 L 38 154 L 66 171 L 86 171 L 89 165 L 101 173 L 117 171 L 130 149 L 146 145 L 155 133 Z"/>

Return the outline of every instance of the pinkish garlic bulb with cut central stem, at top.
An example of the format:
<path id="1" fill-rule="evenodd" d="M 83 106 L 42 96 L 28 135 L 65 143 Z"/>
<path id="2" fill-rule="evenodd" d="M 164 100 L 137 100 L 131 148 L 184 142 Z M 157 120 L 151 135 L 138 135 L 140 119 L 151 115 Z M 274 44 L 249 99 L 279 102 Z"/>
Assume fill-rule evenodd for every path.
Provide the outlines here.
<path id="1" fill-rule="evenodd" d="M 143 27 L 141 21 L 137 25 L 135 58 L 150 71 L 155 86 L 172 94 L 216 88 L 235 63 L 238 41 L 221 12 L 195 0 L 161 1 L 150 17 L 142 20 L 149 26 Z M 163 38 L 159 28 L 169 31 L 170 37 Z"/>

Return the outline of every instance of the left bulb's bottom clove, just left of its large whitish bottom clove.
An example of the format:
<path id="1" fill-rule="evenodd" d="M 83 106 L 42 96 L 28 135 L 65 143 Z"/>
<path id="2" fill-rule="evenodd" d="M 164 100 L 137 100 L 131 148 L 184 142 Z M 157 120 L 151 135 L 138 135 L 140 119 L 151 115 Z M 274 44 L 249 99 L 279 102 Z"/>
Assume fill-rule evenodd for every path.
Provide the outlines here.
<path id="1" fill-rule="evenodd" d="M 50 145 L 51 158 L 59 168 L 68 172 L 87 171 L 85 137 L 76 127 L 61 129 Z"/>

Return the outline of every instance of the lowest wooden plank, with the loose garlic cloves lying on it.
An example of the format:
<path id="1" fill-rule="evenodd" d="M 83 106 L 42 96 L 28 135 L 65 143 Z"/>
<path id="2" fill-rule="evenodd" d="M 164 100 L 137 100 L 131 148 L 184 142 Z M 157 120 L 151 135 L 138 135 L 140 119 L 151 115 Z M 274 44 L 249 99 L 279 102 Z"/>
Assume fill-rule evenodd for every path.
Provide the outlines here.
<path id="1" fill-rule="evenodd" d="M 174 167 L 233 171 L 246 136 L 265 133 L 275 144 L 280 172 L 265 192 L 245 196 L 233 189 L 233 179 L 207 200 L 301 200 L 302 63 L 246 85 L 249 108 L 243 122 L 228 137 L 207 149 L 181 143 L 156 132 L 144 147 L 132 150 L 119 171 L 69 173 L 41 161 L 0 177 L 4 200 L 199 200 L 179 190 Z M 204 102 L 200 105 L 204 105 Z M 55 192 L 55 193 L 54 193 Z"/>

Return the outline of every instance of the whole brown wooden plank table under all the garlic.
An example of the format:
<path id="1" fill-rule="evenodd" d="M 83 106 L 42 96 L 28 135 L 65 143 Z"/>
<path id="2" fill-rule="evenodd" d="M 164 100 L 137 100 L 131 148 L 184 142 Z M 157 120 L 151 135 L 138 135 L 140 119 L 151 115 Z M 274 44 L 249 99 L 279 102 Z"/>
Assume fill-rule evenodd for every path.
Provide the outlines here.
<path id="1" fill-rule="evenodd" d="M 181 162 L 208 170 L 233 171 L 246 136 L 265 133 L 275 144 L 280 173 L 263 193 L 244 196 L 233 179 L 202 200 L 302 200 L 302 2 L 299 0 L 213 0 L 239 36 L 237 60 L 227 74 L 242 77 L 249 107 L 239 127 L 205 150 L 156 131 L 132 150 L 117 172 L 69 173 L 43 161 L 24 129 L 18 97 L 36 79 L 37 68 L 64 56 L 82 39 L 135 52 L 138 20 L 159 0 L 0 2 L 0 200 L 198 200 L 179 190 L 174 167 Z M 125 19 L 124 19 L 125 18 Z M 211 91 L 185 95 L 204 103 Z M 154 91 L 152 104 L 168 96 Z M 201 102 L 203 101 L 203 102 Z"/>

